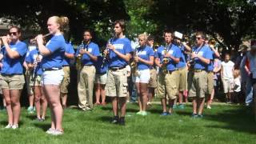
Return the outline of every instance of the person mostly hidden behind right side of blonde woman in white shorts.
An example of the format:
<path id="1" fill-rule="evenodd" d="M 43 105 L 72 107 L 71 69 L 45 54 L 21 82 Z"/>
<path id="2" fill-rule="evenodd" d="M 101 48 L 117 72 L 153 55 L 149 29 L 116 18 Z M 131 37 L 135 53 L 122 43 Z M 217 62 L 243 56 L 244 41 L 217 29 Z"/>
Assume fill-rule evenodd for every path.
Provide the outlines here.
<path id="1" fill-rule="evenodd" d="M 155 53 L 156 50 L 154 50 L 154 36 L 150 35 L 147 38 L 147 44 L 153 49 Z M 156 87 L 157 87 L 157 70 L 156 70 L 155 64 L 153 64 L 153 66 L 150 66 L 150 82 L 148 84 L 148 102 L 147 102 L 148 106 L 151 106 L 151 100 L 154 97 L 154 90 Z"/>

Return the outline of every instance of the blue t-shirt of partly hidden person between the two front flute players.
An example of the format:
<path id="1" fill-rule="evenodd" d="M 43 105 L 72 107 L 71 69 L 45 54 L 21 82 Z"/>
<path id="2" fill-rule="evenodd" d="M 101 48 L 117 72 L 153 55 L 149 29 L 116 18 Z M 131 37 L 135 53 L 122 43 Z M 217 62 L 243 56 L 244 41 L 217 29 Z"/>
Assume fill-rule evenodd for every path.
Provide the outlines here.
<path id="1" fill-rule="evenodd" d="M 26 62 L 33 64 L 37 56 L 38 56 L 38 50 L 37 49 L 31 50 L 29 55 L 26 57 Z M 42 55 L 39 54 L 39 58 L 42 59 Z M 34 72 L 37 75 L 42 75 L 42 68 L 40 66 L 40 62 L 38 62 L 38 65 L 35 67 Z"/>

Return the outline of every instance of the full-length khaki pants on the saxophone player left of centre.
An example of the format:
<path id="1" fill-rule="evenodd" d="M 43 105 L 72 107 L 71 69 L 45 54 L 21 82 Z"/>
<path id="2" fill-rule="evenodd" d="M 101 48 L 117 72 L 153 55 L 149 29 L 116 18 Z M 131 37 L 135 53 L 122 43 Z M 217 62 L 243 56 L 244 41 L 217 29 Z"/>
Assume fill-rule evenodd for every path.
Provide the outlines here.
<path id="1" fill-rule="evenodd" d="M 78 73 L 78 106 L 80 108 L 93 108 L 93 91 L 94 91 L 94 66 L 83 66 Z"/>

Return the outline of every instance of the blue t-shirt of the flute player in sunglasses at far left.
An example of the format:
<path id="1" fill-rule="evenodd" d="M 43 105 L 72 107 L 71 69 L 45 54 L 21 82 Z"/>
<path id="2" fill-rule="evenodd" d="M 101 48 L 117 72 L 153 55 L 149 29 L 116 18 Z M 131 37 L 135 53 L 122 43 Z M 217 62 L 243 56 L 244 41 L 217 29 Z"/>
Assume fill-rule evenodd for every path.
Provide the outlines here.
<path id="1" fill-rule="evenodd" d="M 10 43 L 10 49 L 17 51 L 20 57 L 18 58 L 9 58 L 6 47 L 2 47 L 2 70 L 1 74 L 23 74 L 23 62 L 24 58 L 26 56 L 26 50 L 27 46 L 24 42 L 16 42 L 16 43 Z"/>

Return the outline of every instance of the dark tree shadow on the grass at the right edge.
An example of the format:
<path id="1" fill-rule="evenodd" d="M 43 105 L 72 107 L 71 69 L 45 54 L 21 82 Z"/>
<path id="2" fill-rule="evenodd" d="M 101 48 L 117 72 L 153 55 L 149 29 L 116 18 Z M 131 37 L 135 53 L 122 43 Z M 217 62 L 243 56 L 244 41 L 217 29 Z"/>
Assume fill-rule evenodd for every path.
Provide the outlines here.
<path id="1" fill-rule="evenodd" d="M 207 126 L 210 128 L 236 130 L 256 134 L 254 115 L 248 107 L 238 107 L 238 109 L 234 110 L 223 110 L 218 114 L 206 114 L 205 119 L 226 124 L 225 126 Z"/>

